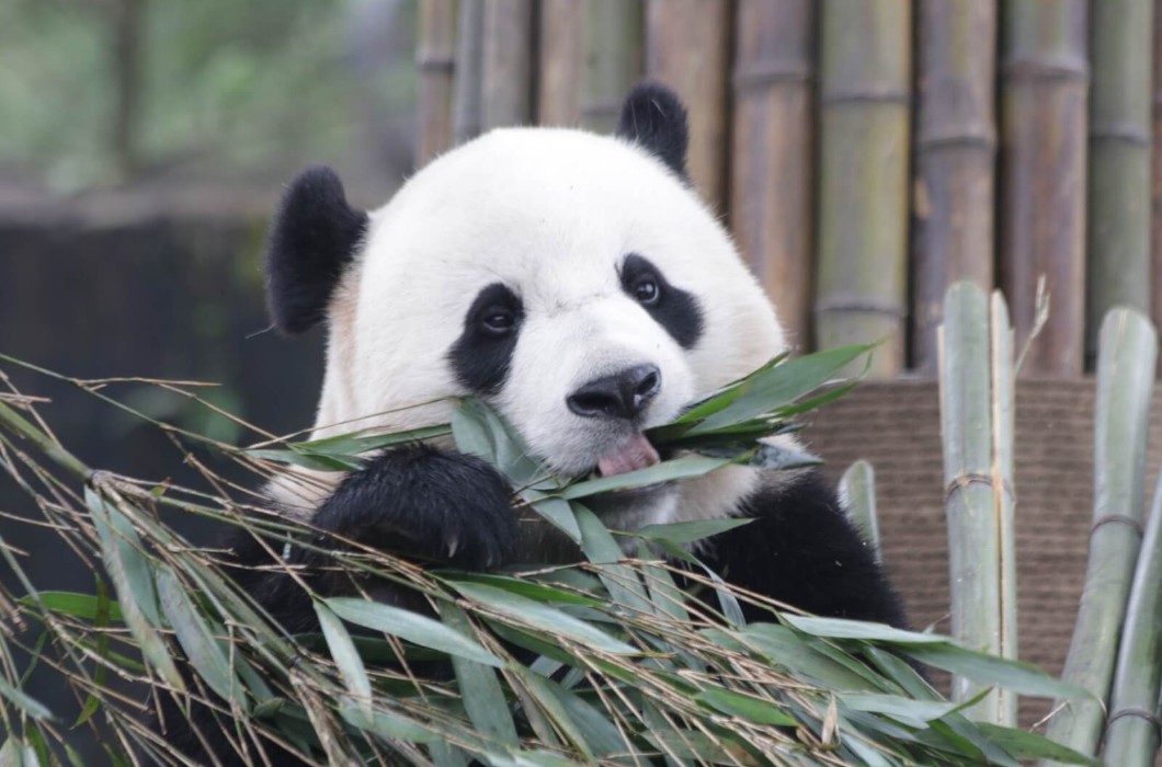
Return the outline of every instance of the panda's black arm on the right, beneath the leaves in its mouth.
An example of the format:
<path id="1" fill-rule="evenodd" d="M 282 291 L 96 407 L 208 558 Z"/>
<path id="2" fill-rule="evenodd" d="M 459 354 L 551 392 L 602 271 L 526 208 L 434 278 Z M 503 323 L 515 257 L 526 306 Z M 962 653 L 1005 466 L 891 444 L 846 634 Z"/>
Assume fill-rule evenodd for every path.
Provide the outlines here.
<path id="1" fill-rule="evenodd" d="M 813 615 L 904 626 L 887 572 L 819 472 L 759 490 L 741 516 L 753 522 L 712 538 L 702 557 L 727 582 Z M 753 605 L 744 612 L 770 619 Z"/>

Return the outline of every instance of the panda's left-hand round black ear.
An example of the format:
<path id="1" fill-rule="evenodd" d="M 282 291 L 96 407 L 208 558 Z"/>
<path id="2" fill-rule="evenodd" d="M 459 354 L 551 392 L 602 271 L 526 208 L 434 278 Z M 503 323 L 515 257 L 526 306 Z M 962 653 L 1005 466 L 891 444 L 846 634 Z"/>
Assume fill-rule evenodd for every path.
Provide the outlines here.
<path id="1" fill-rule="evenodd" d="M 367 232 L 367 214 L 347 205 L 329 167 L 299 173 L 266 238 L 266 306 L 279 331 L 294 335 L 327 315 L 344 267 Z"/>

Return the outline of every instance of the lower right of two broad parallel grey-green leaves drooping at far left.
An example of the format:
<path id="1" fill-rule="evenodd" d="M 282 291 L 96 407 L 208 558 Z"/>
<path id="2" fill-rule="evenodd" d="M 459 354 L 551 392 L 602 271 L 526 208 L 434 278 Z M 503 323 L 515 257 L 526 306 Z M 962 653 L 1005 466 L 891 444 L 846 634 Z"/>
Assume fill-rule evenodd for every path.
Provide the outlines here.
<path id="1" fill-rule="evenodd" d="M 238 689 L 237 678 L 230 671 L 230 660 L 222 647 L 223 639 L 218 638 L 222 631 L 215 636 L 215 631 L 199 615 L 186 589 L 167 565 L 158 567 L 157 588 L 162 596 L 165 617 L 178 637 L 178 644 L 189 659 L 189 665 L 220 697 L 246 710 L 246 697 Z"/>

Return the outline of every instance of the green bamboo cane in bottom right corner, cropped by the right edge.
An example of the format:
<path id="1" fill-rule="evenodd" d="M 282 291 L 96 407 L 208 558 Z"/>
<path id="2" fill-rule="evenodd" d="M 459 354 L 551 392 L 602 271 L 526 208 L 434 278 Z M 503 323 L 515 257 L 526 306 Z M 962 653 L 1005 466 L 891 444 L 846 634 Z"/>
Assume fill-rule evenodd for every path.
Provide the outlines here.
<path id="1" fill-rule="evenodd" d="M 1110 696 L 1103 758 L 1119 767 L 1150 767 L 1159 751 L 1156 718 L 1162 687 L 1162 478 L 1129 590 L 1118 671 Z M 1152 715 L 1154 718 L 1152 718 Z"/>

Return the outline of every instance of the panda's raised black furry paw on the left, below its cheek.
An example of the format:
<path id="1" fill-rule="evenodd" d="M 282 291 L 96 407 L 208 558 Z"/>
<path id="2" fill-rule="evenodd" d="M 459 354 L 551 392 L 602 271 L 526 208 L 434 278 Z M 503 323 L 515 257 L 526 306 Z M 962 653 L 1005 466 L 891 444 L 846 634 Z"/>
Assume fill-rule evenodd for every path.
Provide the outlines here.
<path id="1" fill-rule="evenodd" d="M 511 499 L 508 480 L 480 458 L 410 446 L 349 475 L 314 522 L 375 549 L 489 569 L 516 551 Z"/>

